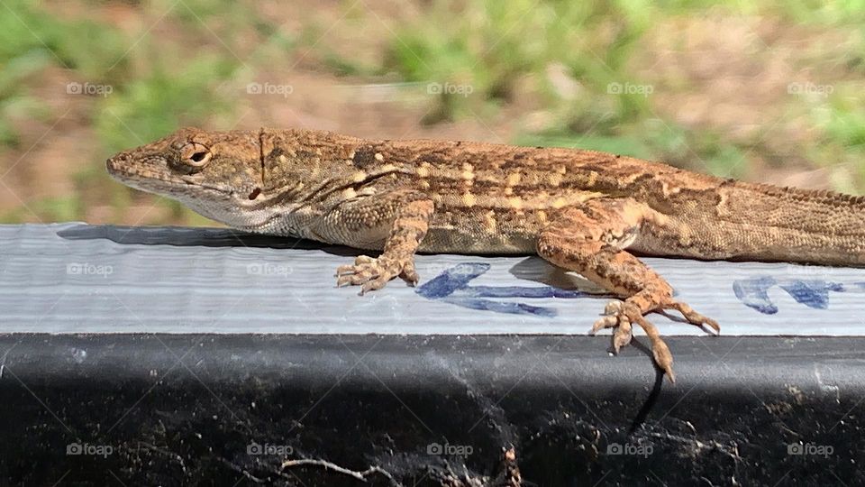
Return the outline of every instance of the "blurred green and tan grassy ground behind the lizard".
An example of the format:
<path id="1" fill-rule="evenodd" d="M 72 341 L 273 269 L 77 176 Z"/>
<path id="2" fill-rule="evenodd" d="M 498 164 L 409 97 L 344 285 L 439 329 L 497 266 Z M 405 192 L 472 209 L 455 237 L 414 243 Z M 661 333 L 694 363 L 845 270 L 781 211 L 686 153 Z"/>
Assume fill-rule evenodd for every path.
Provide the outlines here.
<path id="1" fill-rule="evenodd" d="M 214 225 L 105 174 L 184 125 L 581 147 L 861 193 L 863 75 L 865 0 L 2 2 L 0 222 Z"/>

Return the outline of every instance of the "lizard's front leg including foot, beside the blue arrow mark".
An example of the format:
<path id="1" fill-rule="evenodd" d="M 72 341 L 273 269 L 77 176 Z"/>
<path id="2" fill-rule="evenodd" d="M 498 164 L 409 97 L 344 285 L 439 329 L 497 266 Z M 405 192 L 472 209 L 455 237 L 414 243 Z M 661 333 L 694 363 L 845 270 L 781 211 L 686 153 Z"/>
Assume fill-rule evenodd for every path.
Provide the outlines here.
<path id="1" fill-rule="evenodd" d="M 411 190 L 351 200 L 324 216 L 324 226 L 341 227 L 341 243 L 360 248 L 381 248 L 378 258 L 360 255 L 353 264 L 336 270 L 336 285 L 360 286 L 360 294 L 381 289 L 396 276 L 414 286 L 414 252 L 429 229 L 432 199 Z M 349 225 L 349 226 L 346 226 Z"/>

